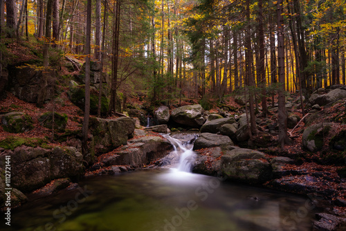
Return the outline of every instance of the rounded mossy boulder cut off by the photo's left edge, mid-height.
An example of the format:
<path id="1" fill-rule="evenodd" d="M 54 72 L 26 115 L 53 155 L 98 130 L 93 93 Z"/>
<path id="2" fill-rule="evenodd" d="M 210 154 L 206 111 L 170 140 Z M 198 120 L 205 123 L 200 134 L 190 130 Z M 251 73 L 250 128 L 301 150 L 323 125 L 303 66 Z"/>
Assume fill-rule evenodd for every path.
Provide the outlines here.
<path id="1" fill-rule="evenodd" d="M 12 111 L 1 115 L 1 122 L 3 124 L 3 130 L 10 133 L 23 133 L 33 129 L 33 120 L 30 115 L 19 112 Z"/>

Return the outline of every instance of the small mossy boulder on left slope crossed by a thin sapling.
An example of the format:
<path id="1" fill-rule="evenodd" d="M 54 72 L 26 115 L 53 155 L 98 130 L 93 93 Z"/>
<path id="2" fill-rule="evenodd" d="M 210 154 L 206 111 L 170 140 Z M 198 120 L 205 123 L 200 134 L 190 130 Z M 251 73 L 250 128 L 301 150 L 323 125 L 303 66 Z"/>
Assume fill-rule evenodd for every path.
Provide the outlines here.
<path id="1" fill-rule="evenodd" d="M 63 132 L 65 131 L 66 125 L 67 125 L 67 115 L 60 114 L 60 113 L 54 113 L 54 129 L 56 131 Z M 46 112 L 43 113 L 41 116 L 39 116 L 39 123 L 48 129 L 53 128 L 53 112 Z"/>

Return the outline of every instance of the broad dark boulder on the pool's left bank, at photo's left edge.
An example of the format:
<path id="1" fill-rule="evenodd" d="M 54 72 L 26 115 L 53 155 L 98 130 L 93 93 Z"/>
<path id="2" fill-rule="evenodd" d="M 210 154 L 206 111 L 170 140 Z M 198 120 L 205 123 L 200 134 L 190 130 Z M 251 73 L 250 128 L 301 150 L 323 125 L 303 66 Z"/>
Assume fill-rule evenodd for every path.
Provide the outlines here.
<path id="1" fill-rule="evenodd" d="M 6 156 L 11 160 L 11 186 L 30 192 L 57 178 L 78 179 L 83 171 L 83 156 L 73 147 L 43 149 L 16 147 L 0 151 L 0 168 L 5 169 Z"/>

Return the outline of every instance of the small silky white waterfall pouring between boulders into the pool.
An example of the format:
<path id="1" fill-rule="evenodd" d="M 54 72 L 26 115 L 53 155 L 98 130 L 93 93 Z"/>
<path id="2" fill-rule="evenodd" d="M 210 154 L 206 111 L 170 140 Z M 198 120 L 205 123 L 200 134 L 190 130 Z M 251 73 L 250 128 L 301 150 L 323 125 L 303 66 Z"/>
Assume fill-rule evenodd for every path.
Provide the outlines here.
<path id="1" fill-rule="evenodd" d="M 192 151 L 193 145 L 190 145 L 189 142 L 183 144 L 181 140 L 172 138 L 169 135 L 164 135 L 163 137 L 173 145 L 174 151 L 172 151 L 171 154 L 173 156 L 179 156 L 179 163 L 176 166 L 176 169 L 178 169 L 179 172 L 191 172 L 194 157 L 196 156 L 195 152 Z"/>

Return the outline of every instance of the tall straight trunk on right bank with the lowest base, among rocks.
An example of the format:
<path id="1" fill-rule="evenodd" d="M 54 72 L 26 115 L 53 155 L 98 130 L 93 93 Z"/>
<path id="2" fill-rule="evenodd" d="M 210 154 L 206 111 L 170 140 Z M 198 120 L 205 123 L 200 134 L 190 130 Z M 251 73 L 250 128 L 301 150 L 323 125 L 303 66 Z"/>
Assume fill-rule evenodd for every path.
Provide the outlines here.
<path id="1" fill-rule="evenodd" d="M 287 136 L 287 113 L 285 108 L 285 95 L 284 95 L 284 17 L 283 13 L 283 0 L 277 1 L 277 59 L 278 59 L 278 74 L 279 74 L 279 92 L 278 92 L 278 125 L 279 125 L 279 144 L 284 148 L 284 144 L 288 138 Z"/>

